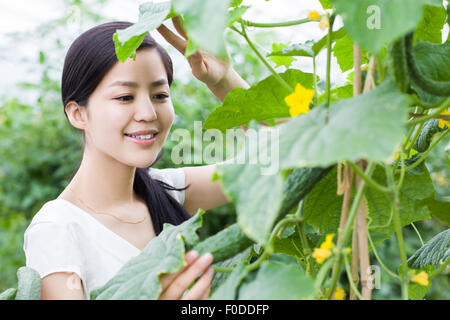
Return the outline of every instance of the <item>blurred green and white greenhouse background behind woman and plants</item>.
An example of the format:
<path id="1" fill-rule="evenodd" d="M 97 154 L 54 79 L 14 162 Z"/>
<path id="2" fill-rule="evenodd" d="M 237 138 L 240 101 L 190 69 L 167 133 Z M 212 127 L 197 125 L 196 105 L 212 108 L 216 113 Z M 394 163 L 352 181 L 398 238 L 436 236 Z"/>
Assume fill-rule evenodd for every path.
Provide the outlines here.
<path id="1" fill-rule="evenodd" d="M 3 14 L 8 13 L 8 10 L 4 10 L 8 8 L 3 7 L 6 2 L 0 0 L 0 12 Z M 32 6 L 39 6 L 38 3 L 48 1 L 26 2 L 28 6 L 31 3 Z M 16 286 L 16 271 L 25 265 L 23 233 L 31 218 L 45 202 L 55 199 L 62 192 L 73 170 L 81 161 L 81 135 L 69 125 L 61 103 L 60 77 L 65 53 L 79 34 L 94 25 L 111 20 L 135 21 L 138 5 L 145 1 L 128 2 L 127 5 L 121 6 L 118 1 L 60 0 L 58 10 L 46 11 L 48 17 L 37 19 L 38 25 L 31 31 L 29 28 L 21 30 L 19 24 L 17 28 L 11 24 L 0 25 L 3 29 L 0 33 L 0 292 Z M 269 5 L 263 0 L 245 2 L 250 5 Z M 298 1 L 272 2 L 278 2 L 278 6 L 285 6 L 288 10 L 276 11 L 277 15 L 271 17 L 271 21 L 293 18 L 306 12 L 304 6 L 299 6 L 297 11 L 289 10 L 289 5 Z M 115 10 L 111 9 L 111 3 L 115 3 Z M 311 1 L 308 6 L 309 9 L 320 8 L 318 1 Z M 124 8 L 130 10 L 126 13 L 128 16 L 124 15 Z M 25 16 L 34 11 L 33 7 L 28 9 Z M 11 10 L 10 12 L 18 16 L 22 14 L 20 11 Z M 260 15 L 254 20 L 264 19 L 265 16 L 261 12 L 255 12 Z M 287 12 L 290 12 L 290 17 L 286 16 Z M 168 26 L 171 24 L 168 23 Z M 251 32 L 255 42 L 268 52 L 274 32 L 278 31 L 260 29 Z M 307 31 L 297 34 L 298 37 L 294 38 L 284 30 L 280 32 L 282 33 L 276 35 L 277 41 L 304 41 L 323 35 L 320 30 L 316 33 Z M 192 76 L 182 55 L 163 42 L 157 32 L 152 33 L 152 36 L 160 41 L 174 60 L 175 81 L 171 94 L 176 119 L 172 130 L 186 128 L 193 136 L 193 122 L 204 121 L 209 113 L 220 105 L 220 101 L 203 83 Z M 225 37 L 234 68 L 250 85 L 269 75 L 242 39 L 232 31 L 227 31 Z M 297 63 L 296 67 L 302 68 L 303 71 L 312 71 L 301 60 Z M 320 64 L 320 59 L 318 63 Z M 282 68 L 278 70 L 284 71 Z M 335 83 L 345 79 L 345 75 L 335 63 L 333 70 Z M 319 70 L 319 76 L 320 72 Z M 427 160 L 437 193 L 447 201 L 450 201 L 449 141 L 450 137 L 447 137 Z M 173 146 L 174 142 L 169 136 L 164 146 L 164 156 L 155 167 L 177 167 L 170 160 Z M 234 214 L 232 205 L 212 210 L 211 214 L 205 216 L 207 228 L 204 232 L 216 232 L 230 223 Z M 424 242 L 445 228 L 437 220 L 419 222 L 416 227 L 421 230 Z M 405 237 L 407 253 L 410 255 L 421 243 L 412 227 L 405 228 Z M 395 240 L 385 241 L 380 245 L 379 251 L 390 264 L 388 267 L 395 269 L 398 263 Z M 449 287 L 449 279 L 439 277 L 433 281 L 439 283 L 432 286 L 427 298 L 449 299 L 449 291 L 443 289 Z M 400 297 L 399 286 L 390 278 L 383 275 L 381 284 L 381 289 L 374 291 L 376 299 Z"/>

